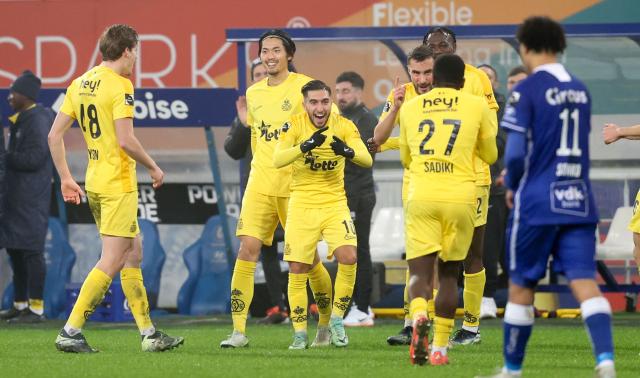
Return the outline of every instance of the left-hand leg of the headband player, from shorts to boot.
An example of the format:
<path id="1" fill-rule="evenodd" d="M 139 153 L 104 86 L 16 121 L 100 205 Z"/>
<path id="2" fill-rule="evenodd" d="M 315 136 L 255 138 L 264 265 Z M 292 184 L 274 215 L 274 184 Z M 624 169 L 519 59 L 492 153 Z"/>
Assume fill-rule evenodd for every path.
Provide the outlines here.
<path id="1" fill-rule="evenodd" d="M 231 319 L 233 333 L 220 343 L 222 348 L 244 347 L 247 315 L 253 300 L 254 273 L 263 244 L 270 245 L 278 225 L 276 197 L 247 191 L 236 229 L 240 248 L 231 276 Z"/>

